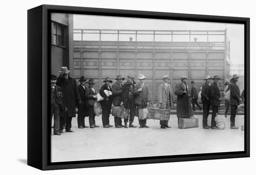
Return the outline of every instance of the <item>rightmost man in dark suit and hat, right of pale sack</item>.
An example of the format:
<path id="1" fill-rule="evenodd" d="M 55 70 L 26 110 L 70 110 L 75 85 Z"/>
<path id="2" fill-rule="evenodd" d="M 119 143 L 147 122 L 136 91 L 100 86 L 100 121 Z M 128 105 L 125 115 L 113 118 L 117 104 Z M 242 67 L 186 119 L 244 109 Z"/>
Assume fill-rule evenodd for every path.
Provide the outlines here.
<path id="1" fill-rule="evenodd" d="M 230 84 L 230 106 L 231 106 L 231 115 L 230 115 L 230 129 L 238 129 L 239 127 L 235 125 L 235 118 L 236 118 L 236 110 L 239 102 L 242 101 L 240 96 L 240 89 L 237 86 L 239 76 L 234 74 L 231 78 L 232 82 Z"/>

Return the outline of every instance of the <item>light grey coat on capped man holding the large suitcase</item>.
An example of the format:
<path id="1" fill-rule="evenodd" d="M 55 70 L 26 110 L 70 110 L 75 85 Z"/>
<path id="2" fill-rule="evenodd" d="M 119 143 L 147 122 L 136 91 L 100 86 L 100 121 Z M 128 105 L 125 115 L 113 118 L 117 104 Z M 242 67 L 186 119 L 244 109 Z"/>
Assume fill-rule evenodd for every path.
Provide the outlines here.
<path id="1" fill-rule="evenodd" d="M 173 102 L 174 102 L 174 95 L 172 93 L 172 88 L 171 85 L 168 84 L 168 88 L 169 88 L 169 94 L 170 94 L 170 101 L 169 104 L 170 106 L 173 106 Z M 158 104 L 161 104 L 160 107 L 163 109 L 166 109 L 166 105 L 167 105 L 167 91 L 168 91 L 167 86 L 165 86 L 164 83 L 162 83 L 161 85 L 159 85 L 158 88 L 158 95 L 157 95 L 157 102 Z"/>

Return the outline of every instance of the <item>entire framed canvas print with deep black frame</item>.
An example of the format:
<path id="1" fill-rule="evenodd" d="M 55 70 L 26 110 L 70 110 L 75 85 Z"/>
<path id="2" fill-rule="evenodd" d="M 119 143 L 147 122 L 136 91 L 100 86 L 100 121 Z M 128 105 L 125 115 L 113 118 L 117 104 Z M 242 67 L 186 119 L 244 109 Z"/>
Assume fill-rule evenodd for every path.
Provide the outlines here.
<path id="1" fill-rule="evenodd" d="M 249 156 L 249 18 L 28 10 L 28 165 Z"/>

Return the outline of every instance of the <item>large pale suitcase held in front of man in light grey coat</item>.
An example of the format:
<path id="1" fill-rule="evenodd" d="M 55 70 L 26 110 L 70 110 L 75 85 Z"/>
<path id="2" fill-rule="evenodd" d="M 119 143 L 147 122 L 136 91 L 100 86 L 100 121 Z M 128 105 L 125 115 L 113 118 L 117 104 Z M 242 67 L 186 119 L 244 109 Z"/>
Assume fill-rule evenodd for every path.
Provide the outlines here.
<path id="1" fill-rule="evenodd" d="M 170 110 L 161 108 L 148 108 L 148 119 L 168 120 L 170 119 Z"/>

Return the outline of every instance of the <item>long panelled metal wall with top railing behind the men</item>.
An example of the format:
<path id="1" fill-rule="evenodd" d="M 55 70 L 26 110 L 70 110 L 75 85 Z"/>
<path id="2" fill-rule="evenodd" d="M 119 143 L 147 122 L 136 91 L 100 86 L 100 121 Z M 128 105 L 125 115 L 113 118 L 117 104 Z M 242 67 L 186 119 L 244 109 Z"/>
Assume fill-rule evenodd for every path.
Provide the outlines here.
<path id="1" fill-rule="evenodd" d="M 106 36 L 112 36 L 111 40 Z M 205 37 L 197 41 L 191 37 Z M 209 41 L 221 36 L 222 42 Z M 175 38 L 186 38 L 178 41 Z M 162 75 L 170 75 L 172 88 L 181 75 L 195 81 L 199 89 L 205 75 L 219 75 L 220 89 L 229 77 L 229 42 L 227 31 L 153 31 L 153 30 L 74 30 L 74 78 L 94 78 L 95 88 L 109 76 L 146 75 L 152 97 L 156 97 Z M 113 39 L 114 38 L 114 39 Z M 135 39 L 134 39 L 135 38 Z M 159 39 L 160 38 L 160 39 Z M 164 39 L 162 39 L 164 38 Z M 166 39 L 168 38 L 168 39 Z M 164 41 L 159 41 L 164 40 Z M 155 98 L 154 98 L 155 99 Z"/>

